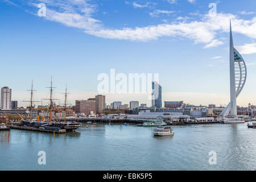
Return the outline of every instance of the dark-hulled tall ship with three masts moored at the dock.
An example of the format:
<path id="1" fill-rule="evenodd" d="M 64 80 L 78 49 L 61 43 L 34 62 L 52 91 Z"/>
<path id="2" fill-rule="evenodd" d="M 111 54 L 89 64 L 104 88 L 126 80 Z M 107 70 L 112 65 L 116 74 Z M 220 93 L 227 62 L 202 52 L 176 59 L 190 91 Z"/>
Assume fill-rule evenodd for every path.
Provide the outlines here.
<path id="1" fill-rule="evenodd" d="M 33 102 L 32 97 L 33 97 L 33 83 L 31 85 L 31 100 L 30 102 L 30 119 L 24 119 L 21 115 L 21 125 L 19 126 L 12 126 L 13 128 L 16 129 L 24 129 L 24 130 L 34 130 L 34 131 L 46 131 L 46 132 L 56 132 L 56 133 L 65 133 L 67 131 L 75 131 L 76 129 L 79 129 L 81 127 L 79 122 L 67 122 L 66 121 L 66 116 L 67 116 L 67 87 L 65 89 L 65 103 L 64 103 L 64 122 L 60 121 L 55 121 L 55 117 L 52 116 L 52 111 L 54 109 L 53 107 L 53 97 L 52 97 L 52 92 L 53 92 L 53 86 L 52 86 L 52 79 L 51 79 L 51 86 L 48 87 L 50 89 L 50 98 L 49 99 L 44 99 L 44 100 L 49 100 L 49 108 L 48 108 L 48 113 L 49 113 L 49 118 L 43 121 L 35 121 L 32 119 L 32 109 L 33 109 Z M 39 120 L 39 117 L 38 119 Z"/>

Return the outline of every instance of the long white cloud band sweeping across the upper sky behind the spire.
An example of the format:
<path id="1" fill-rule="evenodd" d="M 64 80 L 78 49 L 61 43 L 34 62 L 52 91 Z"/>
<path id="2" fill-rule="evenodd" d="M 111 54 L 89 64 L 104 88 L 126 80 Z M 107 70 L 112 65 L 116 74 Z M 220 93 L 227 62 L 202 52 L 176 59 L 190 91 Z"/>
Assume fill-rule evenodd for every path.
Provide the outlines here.
<path id="1" fill-rule="evenodd" d="M 125 27 L 125 28 L 106 28 L 101 20 L 93 18 L 97 12 L 97 5 L 92 5 L 87 0 L 27 0 L 23 1 L 29 5 L 37 6 L 39 2 L 47 3 L 46 19 L 53 22 L 59 22 L 68 27 L 79 28 L 86 34 L 108 39 L 132 40 L 132 41 L 149 41 L 168 36 L 175 38 L 187 38 L 193 40 L 195 44 L 203 43 L 204 48 L 217 47 L 224 42 L 218 38 L 218 34 L 229 32 L 229 19 L 232 19 L 234 33 L 246 35 L 249 38 L 256 39 L 256 16 L 250 20 L 238 18 L 233 14 L 208 14 L 200 16 L 200 19 L 170 23 L 162 23 L 145 27 Z M 174 1 L 170 1 L 174 2 Z M 134 2 L 133 5 L 139 7 L 153 6 L 154 3 L 147 2 L 139 5 Z M 37 8 L 37 7 L 36 7 Z M 36 9 L 37 10 L 37 9 Z M 157 13 L 171 13 L 169 11 L 156 11 Z M 181 17 L 183 18 L 183 17 Z M 180 19 L 181 19 L 180 18 Z M 254 48 L 255 45 L 247 45 Z M 242 47 L 243 48 L 243 47 Z M 254 49 L 255 50 L 255 49 Z M 243 53 L 251 53 L 243 51 Z"/>

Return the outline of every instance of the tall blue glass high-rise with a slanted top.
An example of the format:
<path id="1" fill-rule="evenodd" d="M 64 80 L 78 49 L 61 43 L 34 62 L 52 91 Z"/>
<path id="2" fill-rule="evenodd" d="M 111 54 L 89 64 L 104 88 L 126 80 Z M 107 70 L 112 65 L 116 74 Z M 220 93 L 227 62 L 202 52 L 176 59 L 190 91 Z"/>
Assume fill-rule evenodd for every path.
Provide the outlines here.
<path id="1" fill-rule="evenodd" d="M 162 86 L 156 81 L 152 81 L 152 107 L 162 107 Z"/>

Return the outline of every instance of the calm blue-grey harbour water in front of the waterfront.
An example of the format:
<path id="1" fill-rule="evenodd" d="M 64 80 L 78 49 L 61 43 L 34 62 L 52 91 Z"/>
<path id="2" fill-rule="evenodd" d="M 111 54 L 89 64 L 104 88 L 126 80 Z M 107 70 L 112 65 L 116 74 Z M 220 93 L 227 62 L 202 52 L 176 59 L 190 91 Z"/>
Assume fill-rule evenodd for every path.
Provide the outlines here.
<path id="1" fill-rule="evenodd" d="M 48 133 L 0 131 L 0 169 L 256 169 L 256 129 L 248 129 L 246 123 L 173 126 L 174 137 L 153 137 L 154 128 L 120 125 L 84 125 L 80 132 L 55 138 Z M 46 165 L 38 164 L 39 151 L 46 151 Z M 216 151 L 216 165 L 209 164 L 209 151 Z"/>

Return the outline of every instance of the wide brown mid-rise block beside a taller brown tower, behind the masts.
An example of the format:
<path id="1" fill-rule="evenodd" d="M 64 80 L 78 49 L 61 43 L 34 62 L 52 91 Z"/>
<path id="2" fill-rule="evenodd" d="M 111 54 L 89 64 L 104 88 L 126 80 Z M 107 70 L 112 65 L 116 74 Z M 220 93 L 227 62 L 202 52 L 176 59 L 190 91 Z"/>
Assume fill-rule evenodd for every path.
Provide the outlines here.
<path id="1" fill-rule="evenodd" d="M 88 100 L 76 100 L 76 113 L 84 113 L 89 115 L 91 111 L 96 113 L 96 98 L 89 98 Z"/>

